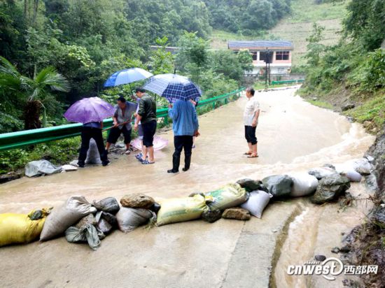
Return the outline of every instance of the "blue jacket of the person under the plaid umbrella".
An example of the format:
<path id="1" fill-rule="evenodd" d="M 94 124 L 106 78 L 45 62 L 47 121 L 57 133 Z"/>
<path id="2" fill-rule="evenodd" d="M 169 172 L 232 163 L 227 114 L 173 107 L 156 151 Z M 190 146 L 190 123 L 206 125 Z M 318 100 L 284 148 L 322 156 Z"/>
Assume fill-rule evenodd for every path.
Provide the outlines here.
<path id="1" fill-rule="evenodd" d="M 200 127 L 197 111 L 190 101 L 175 101 L 174 107 L 169 109 L 169 117 L 173 122 L 174 136 L 193 136 Z"/>

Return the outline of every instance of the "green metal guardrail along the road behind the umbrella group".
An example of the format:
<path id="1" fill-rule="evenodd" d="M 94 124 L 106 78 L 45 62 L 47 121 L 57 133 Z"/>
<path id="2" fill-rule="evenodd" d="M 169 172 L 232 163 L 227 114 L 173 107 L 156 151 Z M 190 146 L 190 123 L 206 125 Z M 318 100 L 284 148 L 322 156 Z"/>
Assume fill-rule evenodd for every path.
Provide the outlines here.
<path id="1" fill-rule="evenodd" d="M 222 101 L 228 103 L 230 96 L 236 94 L 239 96 L 239 93 L 243 90 L 244 88 L 242 87 L 227 94 L 202 100 L 198 103 L 198 107 L 211 104 L 213 105 L 213 108 L 216 108 L 216 103 L 220 102 L 221 105 Z M 160 108 L 157 110 L 157 117 L 164 118 L 165 124 L 169 123 L 168 110 L 168 108 Z M 106 119 L 103 122 L 104 128 L 109 128 L 112 125 L 113 120 L 111 118 Z M 81 127 L 82 124 L 76 123 L 0 134 L 0 151 L 76 137 L 80 135 Z"/>

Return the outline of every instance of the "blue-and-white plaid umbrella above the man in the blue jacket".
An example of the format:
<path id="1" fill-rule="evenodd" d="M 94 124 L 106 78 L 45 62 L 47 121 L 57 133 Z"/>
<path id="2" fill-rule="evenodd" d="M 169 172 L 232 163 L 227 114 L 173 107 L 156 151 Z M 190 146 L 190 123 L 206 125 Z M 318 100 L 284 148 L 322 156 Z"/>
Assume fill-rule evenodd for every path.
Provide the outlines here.
<path id="1" fill-rule="evenodd" d="M 176 74 L 160 74 L 148 79 L 144 89 L 165 97 L 170 103 L 175 100 L 198 100 L 202 90 L 187 77 Z"/>

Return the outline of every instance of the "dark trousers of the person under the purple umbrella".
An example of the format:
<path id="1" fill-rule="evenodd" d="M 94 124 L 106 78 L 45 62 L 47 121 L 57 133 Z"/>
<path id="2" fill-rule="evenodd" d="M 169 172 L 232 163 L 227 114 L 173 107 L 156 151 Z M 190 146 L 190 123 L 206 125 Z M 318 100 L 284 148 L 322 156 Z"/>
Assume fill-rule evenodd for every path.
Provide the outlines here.
<path id="1" fill-rule="evenodd" d="M 81 137 L 81 147 L 80 147 L 80 153 L 78 158 L 79 164 L 85 163 L 85 158 L 87 158 L 87 151 L 88 151 L 88 148 L 90 147 L 91 138 L 93 138 L 97 144 L 97 150 L 99 150 L 100 159 L 102 160 L 102 162 L 106 162 L 109 160 L 107 157 L 106 149 L 104 148 L 102 129 L 92 128 L 92 127 L 83 127 L 80 137 Z"/>

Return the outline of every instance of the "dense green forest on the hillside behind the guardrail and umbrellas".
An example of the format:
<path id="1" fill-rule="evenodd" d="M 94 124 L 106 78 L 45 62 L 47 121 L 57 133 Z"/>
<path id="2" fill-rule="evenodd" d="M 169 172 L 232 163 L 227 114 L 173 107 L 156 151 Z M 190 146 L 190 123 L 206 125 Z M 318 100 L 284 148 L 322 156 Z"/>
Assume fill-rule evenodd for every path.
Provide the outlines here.
<path id="1" fill-rule="evenodd" d="M 289 12 L 290 0 L 1 0 L 0 132 L 63 124 L 84 96 L 127 94 L 103 83 L 132 66 L 176 69 L 205 97 L 237 89 L 251 58 L 209 50 L 211 30 L 258 35 Z"/>

